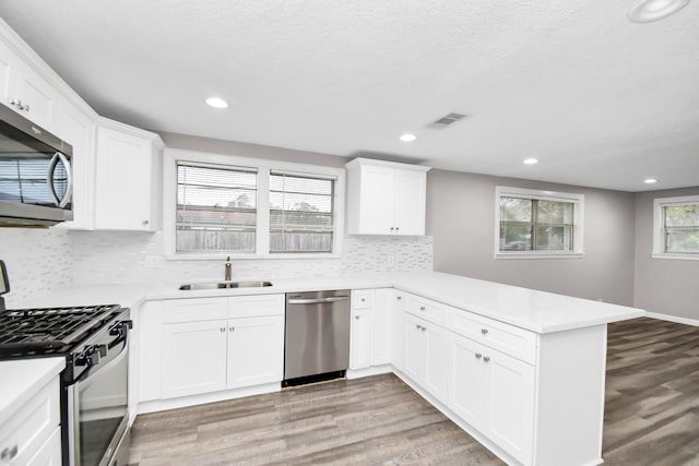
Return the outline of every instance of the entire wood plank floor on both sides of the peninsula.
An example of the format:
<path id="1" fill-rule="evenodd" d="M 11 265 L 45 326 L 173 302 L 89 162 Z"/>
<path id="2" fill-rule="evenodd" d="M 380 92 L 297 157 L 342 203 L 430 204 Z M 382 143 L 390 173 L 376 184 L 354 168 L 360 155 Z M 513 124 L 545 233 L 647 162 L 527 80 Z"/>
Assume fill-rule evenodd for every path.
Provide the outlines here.
<path id="1" fill-rule="evenodd" d="M 699 465 L 699 328 L 609 325 L 605 465 Z M 139 416 L 149 465 L 502 465 L 392 374 Z M 565 466 L 565 465 L 561 465 Z"/>

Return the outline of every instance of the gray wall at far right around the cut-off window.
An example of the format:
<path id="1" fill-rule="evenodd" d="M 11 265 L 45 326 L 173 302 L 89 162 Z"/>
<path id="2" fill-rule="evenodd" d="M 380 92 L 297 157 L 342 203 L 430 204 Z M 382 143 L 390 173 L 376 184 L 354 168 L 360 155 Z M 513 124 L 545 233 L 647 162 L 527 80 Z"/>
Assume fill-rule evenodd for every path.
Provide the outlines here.
<path id="1" fill-rule="evenodd" d="M 635 306 L 699 320 L 699 261 L 653 259 L 653 200 L 699 195 L 699 187 L 636 194 Z"/>

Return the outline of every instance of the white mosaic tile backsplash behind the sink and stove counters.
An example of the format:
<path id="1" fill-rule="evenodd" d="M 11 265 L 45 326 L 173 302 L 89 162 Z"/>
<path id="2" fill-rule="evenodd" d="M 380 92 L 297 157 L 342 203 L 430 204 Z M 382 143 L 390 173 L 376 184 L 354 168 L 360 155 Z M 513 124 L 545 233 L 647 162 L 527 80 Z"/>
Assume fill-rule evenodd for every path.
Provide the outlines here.
<path id="1" fill-rule="evenodd" d="M 166 260 L 163 250 L 162 232 L 0 228 L 0 259 L 8 265 L 12 288 L 8 306 L 21 302 L 33 292 L 71 284 L 169 283 L 223 277 L 223 260 Z M 236 260 L 233 278 L 431 270 L 431 237 L 352 236 L 344 238 L 341 258 Z"/>

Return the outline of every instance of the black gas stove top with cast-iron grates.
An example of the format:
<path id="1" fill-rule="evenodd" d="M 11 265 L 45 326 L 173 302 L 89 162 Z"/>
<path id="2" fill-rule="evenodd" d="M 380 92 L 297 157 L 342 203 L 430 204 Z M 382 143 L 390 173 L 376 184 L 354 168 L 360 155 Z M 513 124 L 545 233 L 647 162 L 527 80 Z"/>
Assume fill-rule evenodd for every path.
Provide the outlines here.
<path id="1" fill-rule="evenodd" d="M 121 310 L 119 304 L 107 304 L 0 312 L 0 359 L 70 351 Z"/>

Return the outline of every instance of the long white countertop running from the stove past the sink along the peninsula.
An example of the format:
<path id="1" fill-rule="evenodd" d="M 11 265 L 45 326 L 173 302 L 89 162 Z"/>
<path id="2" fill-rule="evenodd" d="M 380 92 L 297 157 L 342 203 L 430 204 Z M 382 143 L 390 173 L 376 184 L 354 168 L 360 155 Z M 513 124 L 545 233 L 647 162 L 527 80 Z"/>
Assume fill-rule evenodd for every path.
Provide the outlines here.
<path id="1" fill-rule="evenodd" d="M 194 282 L 205 280 L 191 280 Z M 143 300 L 395 287 L 536 333 L 581 328 L 644 315 L 644 311 L 640 309 L 439 272 L 274 278 L 271 282 L 273 286 L 264 288 L 188 291 L 178 289 L 181 284 L 190 283 L 187 279 L 173 284 L 83 286 L 33 298 L 28 306 L 119 303 L 123 307 L 137 307 Z"/>

